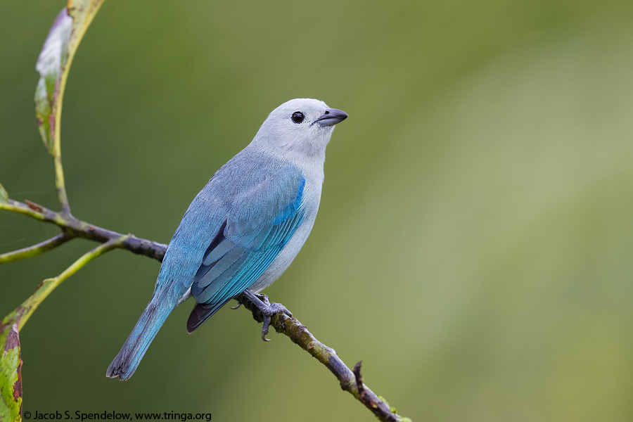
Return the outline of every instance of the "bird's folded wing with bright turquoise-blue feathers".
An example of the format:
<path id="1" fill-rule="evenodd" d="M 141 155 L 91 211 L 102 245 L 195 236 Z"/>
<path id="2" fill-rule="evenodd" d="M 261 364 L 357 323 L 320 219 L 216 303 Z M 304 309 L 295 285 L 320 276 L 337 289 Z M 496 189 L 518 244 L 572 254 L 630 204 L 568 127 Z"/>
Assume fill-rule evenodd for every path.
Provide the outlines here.
<path id="1" fill-rule="evenodd" d="M 262 275 L 305 217 L 304 186 L 295 172 L 281 183 L 264 180 L 236 198 L 193 278 L 198 303 L 219 309 Z"/>

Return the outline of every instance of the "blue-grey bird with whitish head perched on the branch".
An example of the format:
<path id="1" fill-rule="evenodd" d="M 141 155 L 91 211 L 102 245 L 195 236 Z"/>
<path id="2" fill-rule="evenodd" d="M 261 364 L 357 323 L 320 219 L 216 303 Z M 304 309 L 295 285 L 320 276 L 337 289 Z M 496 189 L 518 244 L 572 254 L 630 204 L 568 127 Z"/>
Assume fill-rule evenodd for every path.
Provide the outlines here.
<path id="1" fill-rule="evenodd" d="M 188 333 L 241 293 L 264 318 L 290 315 L 255 293 L 286 271 L 309 236 L 321 200 L 326 146 L 335 124 L 347 117 L 316 99 L 287 101 L 215 172 L 186 210 L 152 298 L 106 376 L 129 379 L 167 316 L 190 297 L 196 304 Z M 264 326 L 267 332 L 267 321 Z"/>

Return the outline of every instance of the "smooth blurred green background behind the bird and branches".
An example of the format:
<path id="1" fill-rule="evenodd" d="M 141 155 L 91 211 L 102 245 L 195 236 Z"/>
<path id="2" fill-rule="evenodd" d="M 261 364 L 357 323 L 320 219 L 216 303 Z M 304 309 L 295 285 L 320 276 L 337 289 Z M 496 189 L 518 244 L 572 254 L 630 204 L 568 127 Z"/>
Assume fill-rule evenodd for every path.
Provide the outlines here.
<path id="1" fill-rule="evenodd" d="M 57 208 L 32 101 L 63 1 L 0 3 L 0 181 Z M 74 214 L 167 243 L 283 101 L 350 118 L 312 236 L 271 288 L 415 421 L 633 420 L 633 2 L 106 1 L 70 72 Z M 0 252 L 57 234 L 0 214 Z M 0 267 L 0 313 L 94 244 Z M 29 411 L 373 421 L 243 309 L 179 307 L 126 383 L 105 377 L 158 263 L 114 251 L 28 321 Z"/>

